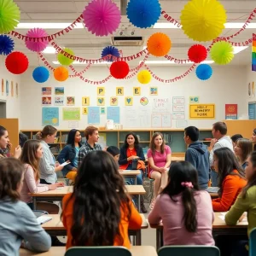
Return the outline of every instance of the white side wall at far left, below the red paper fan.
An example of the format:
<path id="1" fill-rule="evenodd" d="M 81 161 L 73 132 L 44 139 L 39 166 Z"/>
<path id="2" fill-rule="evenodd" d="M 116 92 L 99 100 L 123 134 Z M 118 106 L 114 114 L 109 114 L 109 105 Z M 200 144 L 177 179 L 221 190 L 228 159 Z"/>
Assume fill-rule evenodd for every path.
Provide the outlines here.
<path id="1" fill-rule="evenodd" d="M 6 101 L 6 117 L 20 118 L 20 75 L 9 73 L 4 65 L 4 59 L 0 61 L 0 100 Z M 3 82 L 2 82 L 3 81 Z M 7 95 L 6 81 L 9 82 L 9 94 Z M 13 81 L 13 95 L 12 95 Z M 3 83 L 3 90 L 2 90 Z M 16 84 L 18 93 L 16 90 Z"/>

